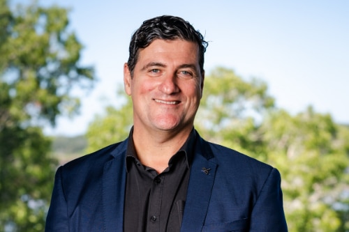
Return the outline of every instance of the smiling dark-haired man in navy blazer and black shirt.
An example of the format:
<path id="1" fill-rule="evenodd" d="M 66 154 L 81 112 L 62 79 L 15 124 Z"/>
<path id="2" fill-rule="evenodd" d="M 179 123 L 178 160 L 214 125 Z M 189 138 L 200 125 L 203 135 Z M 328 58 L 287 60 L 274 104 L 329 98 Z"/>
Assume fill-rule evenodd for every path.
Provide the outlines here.
<path id="1" fill-rule="evenodd" d="M 59 167 L 46 231 L 287 231 L 279 171 L 193 128 L 206 47 L 179 17 L 135 31 L 130 135 Z"/>

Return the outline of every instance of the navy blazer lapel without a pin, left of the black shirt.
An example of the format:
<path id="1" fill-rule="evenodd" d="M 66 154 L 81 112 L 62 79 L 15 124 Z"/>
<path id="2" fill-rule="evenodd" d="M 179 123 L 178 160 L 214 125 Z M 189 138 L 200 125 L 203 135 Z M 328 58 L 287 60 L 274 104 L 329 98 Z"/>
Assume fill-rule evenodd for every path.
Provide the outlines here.
<path id="1" fill-rule="evenodd" d="M 103 171 L 104 230 L 124 230 L 124 199 L 126 185 L 126 146 L 122 142 L 112 151 L 112 159 L 105 163 Z"/>

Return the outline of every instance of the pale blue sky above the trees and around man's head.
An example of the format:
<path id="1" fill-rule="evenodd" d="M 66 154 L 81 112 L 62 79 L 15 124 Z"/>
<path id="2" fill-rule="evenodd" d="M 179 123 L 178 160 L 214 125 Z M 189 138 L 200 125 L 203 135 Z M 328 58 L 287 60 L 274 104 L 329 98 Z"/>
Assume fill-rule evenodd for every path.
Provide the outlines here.
<path id="1" fill-rule="evenodd" d="M 13 2 L 27 2 L 17 0 Z M 221 65 L 265 80 L 276 105 L 297 114 L 312 105 L 349 123 L 349 1 L 82 1 L 41 0 L 71 8 L 70 29 L 85 46 L 82 64 L 98 82 L 82 98 L 81 115 L 59 118 L 48 134 L 82 134 L 105 105 L 119 104 L 117 86 L 128 43 L 158 15 L 184 17 L 208 40 L 205 69 Z"/>

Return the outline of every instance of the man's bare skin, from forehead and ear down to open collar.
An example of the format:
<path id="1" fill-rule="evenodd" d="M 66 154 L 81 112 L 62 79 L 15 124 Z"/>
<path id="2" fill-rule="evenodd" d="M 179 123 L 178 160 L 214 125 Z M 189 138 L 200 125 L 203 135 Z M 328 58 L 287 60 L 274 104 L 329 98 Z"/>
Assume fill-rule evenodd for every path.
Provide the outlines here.
<path id="1" fill-rule="evenodd" d="M 134 70 L 124 65 L 137 157 L 158 173 L 193 130 L 204 83 L 198 54 L 198 45 L 191 41 L 154 40 L 140 50 Z"/>

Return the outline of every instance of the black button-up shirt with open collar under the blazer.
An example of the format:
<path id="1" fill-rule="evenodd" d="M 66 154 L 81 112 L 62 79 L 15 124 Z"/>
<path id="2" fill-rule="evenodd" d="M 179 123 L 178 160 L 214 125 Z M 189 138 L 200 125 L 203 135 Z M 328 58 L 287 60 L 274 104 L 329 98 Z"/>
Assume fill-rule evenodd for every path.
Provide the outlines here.
<path id="1" fill-rule="evenodd" d="M 192 130 L 168 168 L 157 173 L 137 158 L 131 130 L 126 151 L 124 231 L 180 231 L 196 133 Z"/>

